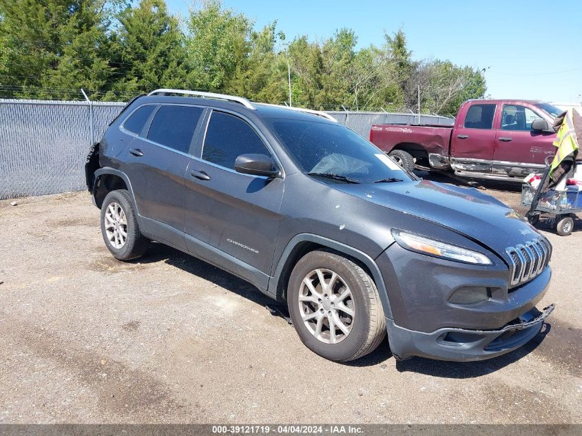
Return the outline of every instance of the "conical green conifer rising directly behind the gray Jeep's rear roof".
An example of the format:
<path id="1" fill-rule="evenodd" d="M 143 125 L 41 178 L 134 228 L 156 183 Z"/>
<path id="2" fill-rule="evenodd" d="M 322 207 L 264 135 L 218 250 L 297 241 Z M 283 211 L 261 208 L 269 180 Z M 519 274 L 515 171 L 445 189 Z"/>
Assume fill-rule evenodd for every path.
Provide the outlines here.
<path id="1" fill-rule="evenodd" d="M 110 60 L 118 79 L 107 98 L 186 86 L 183 35 L 165 1 L 141 0 L 122 10 L 118 22 Z"/>

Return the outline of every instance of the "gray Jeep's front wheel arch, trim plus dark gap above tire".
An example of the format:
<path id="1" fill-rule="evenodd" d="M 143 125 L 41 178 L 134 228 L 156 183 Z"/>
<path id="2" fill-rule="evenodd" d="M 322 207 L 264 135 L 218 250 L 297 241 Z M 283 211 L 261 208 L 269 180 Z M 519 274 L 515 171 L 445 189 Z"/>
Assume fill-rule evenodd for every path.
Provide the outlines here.
<path id="1" fill-rule="evenodd" d="M 318 249 L 332 249 L 333 251 L 337 251 L 337 253 L 351 258 L 351 260 L 362 267 L 376 285 L 384 315 L 388 318 L 393 318 L 384 279 L 373 258 L 363 251 L 345 245 L 342 242 L 337 242 L 312 233 L 300 233 L 289 241 L 278 261 L 274 276 L 269 280 L 269 293 L 275 295 L 277 300 L 285 301 L 287 299 L 287 282 L 289 282 L 293 267 L 306 253 Z"/>

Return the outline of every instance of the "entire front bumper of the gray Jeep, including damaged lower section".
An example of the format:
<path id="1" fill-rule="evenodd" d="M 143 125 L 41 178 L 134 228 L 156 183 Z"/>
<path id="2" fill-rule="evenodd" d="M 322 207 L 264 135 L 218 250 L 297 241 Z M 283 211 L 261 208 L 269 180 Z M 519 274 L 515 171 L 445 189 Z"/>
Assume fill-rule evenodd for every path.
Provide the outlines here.
<path id="1" fill-rule="evenodd" d="M 391 309 L 388 342 L 397 359 L 414 355 L 471 361 L 495 357 L 526 344 L 541 330 L 552 307 L 536 309 L 552 276 L 508 289 L 508 267 L 431 258 L 393 244 L 376 259 Z M 459 290 L 479 291 L 477 301 L 459 301 Z"/>

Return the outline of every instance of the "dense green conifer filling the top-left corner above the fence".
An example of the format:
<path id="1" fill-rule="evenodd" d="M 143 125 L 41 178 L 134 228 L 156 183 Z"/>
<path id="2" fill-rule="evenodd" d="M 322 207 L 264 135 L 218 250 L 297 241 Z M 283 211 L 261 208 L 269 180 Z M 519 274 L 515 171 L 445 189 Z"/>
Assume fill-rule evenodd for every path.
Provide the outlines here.
<path id="1" fill-rule="evenodd" d="M 0 0 L 0 83 L 9 96 L 78 98 L 109 80 L 105 0 Z"/>

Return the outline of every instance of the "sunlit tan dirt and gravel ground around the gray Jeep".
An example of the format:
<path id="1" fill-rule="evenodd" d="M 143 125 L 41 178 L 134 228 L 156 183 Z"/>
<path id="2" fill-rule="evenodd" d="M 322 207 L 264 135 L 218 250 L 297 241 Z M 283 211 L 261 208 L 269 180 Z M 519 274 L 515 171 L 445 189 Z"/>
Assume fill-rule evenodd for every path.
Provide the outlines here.
<path id="1" fill-rule="evenodd" d="M 497 187 L 499 188 L 499 187 Z M 505 187 L 501 187 L 506 189 Z M 492 191 L 517 207 L 519 194 Z M 249 284 L 152 243 L 105 249 L 87 193 L 0 201 L 0 423 L 581 423 L 582 223 L 530 344 L 495 360 L 311 353 Z"/>

